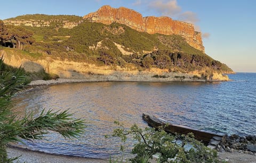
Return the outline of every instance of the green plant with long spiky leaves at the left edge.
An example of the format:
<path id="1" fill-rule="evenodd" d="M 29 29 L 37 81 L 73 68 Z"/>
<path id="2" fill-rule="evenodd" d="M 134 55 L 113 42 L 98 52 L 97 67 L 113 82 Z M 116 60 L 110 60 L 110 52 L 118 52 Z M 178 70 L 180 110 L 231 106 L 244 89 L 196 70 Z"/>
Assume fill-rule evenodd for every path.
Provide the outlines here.
<path id="1" fill-rule="evenodd" d="M 77 137 L 85 127 L 84 120 L 70 118 L 72 114 L 67 110 L 43 110 L 38 117 L 29 114 L 18 119 L 10 109 L 10 99 L 29 82 L 23 69 L 6 66 L 0 58 L 0 162 L 13 160 L 7 158 L 6 145 L 9 142 L 22 142 L 21 138 L 41 139 L 49 131 L 58 132 L 66 138 Z"/>

